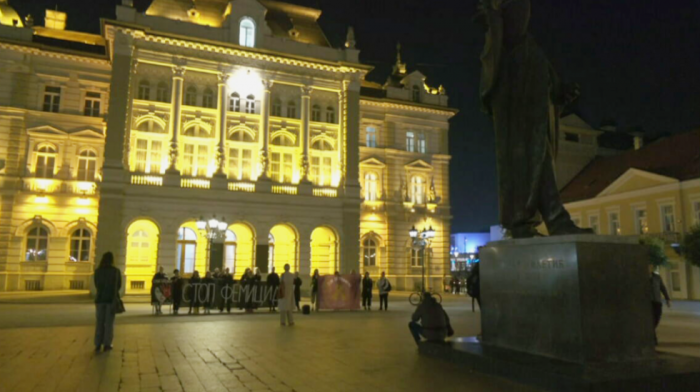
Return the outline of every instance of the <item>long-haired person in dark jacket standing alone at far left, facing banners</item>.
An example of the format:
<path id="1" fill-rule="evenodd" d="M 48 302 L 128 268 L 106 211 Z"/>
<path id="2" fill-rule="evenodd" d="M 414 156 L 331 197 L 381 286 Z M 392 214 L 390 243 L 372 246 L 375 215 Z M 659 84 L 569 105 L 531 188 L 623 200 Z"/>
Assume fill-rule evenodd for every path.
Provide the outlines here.
<path id="1" fill-rule="evenodd" d="M 119 299 L 119 289 L 122 287 L 122 274 L 114 267 L 114 255 L 107 252 L 102 255 L 100 266 L 95 270 L 95 309 L 97 323 L 95 325 L 95 351 L 104 347 L 105 351 L 112 349 L 114 338 L 115 301 Z"/>

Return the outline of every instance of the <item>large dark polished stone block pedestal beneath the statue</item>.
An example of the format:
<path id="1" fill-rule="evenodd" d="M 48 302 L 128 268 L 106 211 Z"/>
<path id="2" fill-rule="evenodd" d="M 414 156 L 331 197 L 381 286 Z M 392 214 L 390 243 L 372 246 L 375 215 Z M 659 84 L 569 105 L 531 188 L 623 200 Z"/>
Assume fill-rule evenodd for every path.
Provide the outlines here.
<path id="1" fill-rule="evenodd" d="M 635 239 L 504 240 L 480 258 L 485 345 L 576 363 L 653 357 L 648 260 Z"/>

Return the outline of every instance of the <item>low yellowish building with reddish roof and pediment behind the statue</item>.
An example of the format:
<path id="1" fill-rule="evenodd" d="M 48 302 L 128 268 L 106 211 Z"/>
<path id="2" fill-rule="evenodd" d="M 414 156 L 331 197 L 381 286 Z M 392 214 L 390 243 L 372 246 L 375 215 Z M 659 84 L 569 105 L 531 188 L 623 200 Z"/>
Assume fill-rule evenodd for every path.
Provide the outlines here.
<path id="1" fill-rule="evenodd" d="M 700 269 L 678 244 L 700 223 L 700 131 L 598 157 L 561 192 L 574 222 L 598 234 L 662 238 L 671 265 L 662 276 L 677 299 L 700 299 Z"/>

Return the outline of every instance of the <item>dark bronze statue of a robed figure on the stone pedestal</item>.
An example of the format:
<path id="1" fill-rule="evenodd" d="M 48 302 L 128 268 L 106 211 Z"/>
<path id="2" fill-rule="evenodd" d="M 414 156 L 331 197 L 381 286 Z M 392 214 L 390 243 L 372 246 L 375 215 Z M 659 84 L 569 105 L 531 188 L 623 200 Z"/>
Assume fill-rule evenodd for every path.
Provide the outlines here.
<path id="1" fill-rule="evenodd" d="M 578 96 L 563 88 L 528 34 L 529 0 L 481 0 L 476 19 L 487 28 L 481 55 L 481 102 L 496 132 L 501 225 L 513 238 L 592 233 L 571 220 L 554 178 L 558 119 Z"/>

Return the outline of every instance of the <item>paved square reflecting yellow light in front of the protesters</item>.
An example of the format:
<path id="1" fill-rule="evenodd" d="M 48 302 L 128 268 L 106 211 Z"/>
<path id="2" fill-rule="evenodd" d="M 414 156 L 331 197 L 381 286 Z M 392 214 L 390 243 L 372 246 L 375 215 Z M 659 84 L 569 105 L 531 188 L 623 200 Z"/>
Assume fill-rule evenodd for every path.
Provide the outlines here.
<path id="1" fill-rule="evenodd" d="M 406 324 L 389 312 L 153 316 L 127 303 L 114 350 L 93 352 L 90 304 L 0 304 L 0 391 L 529 391 L 506 380 L 418 356 Z M 445 308 L 459 335 L 479 331 L 464 298 Z M 661 349 L 700 356 L 700 315 L 672 313 Z"/>

